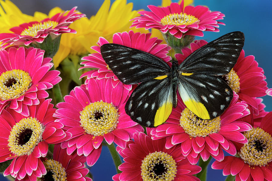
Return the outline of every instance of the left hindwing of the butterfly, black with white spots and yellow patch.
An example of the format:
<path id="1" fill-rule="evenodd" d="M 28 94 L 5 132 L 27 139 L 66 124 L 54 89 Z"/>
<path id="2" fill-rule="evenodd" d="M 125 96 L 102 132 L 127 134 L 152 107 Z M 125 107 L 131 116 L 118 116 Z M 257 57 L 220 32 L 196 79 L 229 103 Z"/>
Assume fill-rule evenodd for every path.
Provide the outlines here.
<path id="1" fill-rule="evenodd" d="M 135 122 L 143 126 L 155 127 L 166 121 L 172 107 L 173 87 L 167 77 L 139 84 L 129 97 L 125 111 Z"/>

